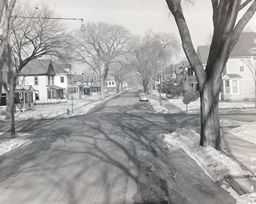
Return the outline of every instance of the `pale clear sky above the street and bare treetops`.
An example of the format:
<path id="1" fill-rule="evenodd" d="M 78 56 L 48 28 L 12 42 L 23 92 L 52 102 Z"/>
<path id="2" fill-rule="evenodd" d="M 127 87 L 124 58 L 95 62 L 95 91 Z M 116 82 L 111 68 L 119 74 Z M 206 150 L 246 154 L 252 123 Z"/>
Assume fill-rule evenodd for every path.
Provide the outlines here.
<path id="1" fill-rule="evenodd" d="M 173 32 L 180 39 L 165 0 L 31 0 L 32 5 L 40 2 L 54 7 L 61 18 L 120 24 L 136 35 L 143 35 L 149 29 Z M 213 31 L 211 0 L 196 0 L 196 4 L 185 8 L 184 15 L 195 49 L 198 45 L 205 45 L 207 36 Z M 70 28 L 81 27 L 82 24 L 73 20 L 69 20 L 69 23 Z M 251 19 L 251 25 L 254 26 L 254 19 Z M 174 63 L 185 59 L 181 49 Z"/>

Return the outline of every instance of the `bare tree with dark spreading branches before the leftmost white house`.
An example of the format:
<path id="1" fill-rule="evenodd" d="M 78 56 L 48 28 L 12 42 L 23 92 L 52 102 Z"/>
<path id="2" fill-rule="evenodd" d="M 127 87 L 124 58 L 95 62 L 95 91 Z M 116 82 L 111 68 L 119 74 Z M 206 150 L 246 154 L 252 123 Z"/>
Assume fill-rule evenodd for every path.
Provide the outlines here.
<path id="1" fill-rule="evenodd" d="M 27 5 L 14 8 L 14 17 L 10 20 L 9 82 L 3 80 L 8 98 L 5 119 L 11 118 L 12 134 L 15 134 L 14 106 L 9 103 L 14 101 L 16 80 L 23 67 L 29 61 L 46 55 L 69 59 L 66 26 L 53 13 L 47 5 L 42 5 L 41 9 Z"/>

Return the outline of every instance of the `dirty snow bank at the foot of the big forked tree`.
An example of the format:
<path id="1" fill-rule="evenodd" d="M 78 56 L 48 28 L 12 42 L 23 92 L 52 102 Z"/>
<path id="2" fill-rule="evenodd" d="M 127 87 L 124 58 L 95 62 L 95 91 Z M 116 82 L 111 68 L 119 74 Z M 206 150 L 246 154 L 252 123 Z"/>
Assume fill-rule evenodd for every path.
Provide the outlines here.
<path id="1" fill-rule="evenodd" d="M 165 141 L 171 145 L 170 140 L 175 139 L 183 151 L 196 160 L 203 169 L 215 181 L 221 181 L 225 177 L 241 178 L 251 175 L 251 172 L 243 168 L 236 160 L 225 155 L 211 146 L 199 146 L 200 135 L 193 130 L 176 129 L 174 133 L 166 134 Z"/>

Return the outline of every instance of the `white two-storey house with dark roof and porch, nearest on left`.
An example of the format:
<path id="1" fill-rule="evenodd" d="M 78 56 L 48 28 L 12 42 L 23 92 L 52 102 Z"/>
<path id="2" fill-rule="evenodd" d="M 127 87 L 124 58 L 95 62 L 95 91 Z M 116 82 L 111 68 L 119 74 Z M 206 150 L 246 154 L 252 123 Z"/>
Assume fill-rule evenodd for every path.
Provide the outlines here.
<path id="1" fill-rule="evenodd" d="M 32 85 L 35 105 L 66 102 L 65 88 L 55 85 L 55 70 L 51 59 L 35 59 L 27 63 L 18 75 L 19 85 Z"/>

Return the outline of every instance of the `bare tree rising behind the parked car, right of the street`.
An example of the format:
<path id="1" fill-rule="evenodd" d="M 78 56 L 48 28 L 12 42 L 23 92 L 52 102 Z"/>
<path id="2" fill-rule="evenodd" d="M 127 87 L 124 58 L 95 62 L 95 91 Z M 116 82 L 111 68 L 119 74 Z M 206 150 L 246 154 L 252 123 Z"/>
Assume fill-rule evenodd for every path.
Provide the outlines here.
<path id="1" fill-rule="evenodd" d="M 141 78 L 140 81 L 146 93 L 148 93 L 148 84 L 150 84 L 151 98 L 153 97 L 153 80 L 157 72 L 165 69 L 171 57 L 178 51 L 178 39 L 173 33 L 154 33 L 152 30 L 145 32 L 145 36 L 135 48 L 134 72 Z"/>

